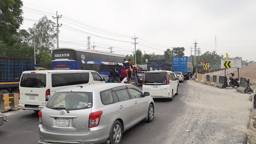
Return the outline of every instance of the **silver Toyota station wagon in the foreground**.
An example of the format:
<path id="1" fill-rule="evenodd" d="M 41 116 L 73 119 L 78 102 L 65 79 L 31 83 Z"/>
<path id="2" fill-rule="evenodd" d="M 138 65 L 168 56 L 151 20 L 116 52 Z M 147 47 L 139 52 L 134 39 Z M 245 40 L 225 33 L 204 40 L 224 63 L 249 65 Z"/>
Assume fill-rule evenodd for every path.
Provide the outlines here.
<path id="1" fill-rule="evenodd" d="M 123 132 L 152 122 L 154 100 L 131 84 L 90 84 L 59 90 L 38 112 L 40 144 L 120 144 Z"/>

